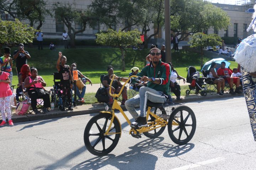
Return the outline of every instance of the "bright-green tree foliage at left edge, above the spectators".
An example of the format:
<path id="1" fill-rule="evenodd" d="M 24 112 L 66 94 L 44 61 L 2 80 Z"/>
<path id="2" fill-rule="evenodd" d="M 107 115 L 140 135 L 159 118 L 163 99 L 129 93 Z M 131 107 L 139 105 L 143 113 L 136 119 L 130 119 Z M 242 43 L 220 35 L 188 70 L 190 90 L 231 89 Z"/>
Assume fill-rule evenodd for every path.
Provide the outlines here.
<path id="1" fill-rule="evenodd" d="M 18 19 L 15 22 L 0 20 L 0 49 L 4 45 L 13 47 L 19 43 L 33 42 L 34 32 L 33 27 L 22 24 Z"/>

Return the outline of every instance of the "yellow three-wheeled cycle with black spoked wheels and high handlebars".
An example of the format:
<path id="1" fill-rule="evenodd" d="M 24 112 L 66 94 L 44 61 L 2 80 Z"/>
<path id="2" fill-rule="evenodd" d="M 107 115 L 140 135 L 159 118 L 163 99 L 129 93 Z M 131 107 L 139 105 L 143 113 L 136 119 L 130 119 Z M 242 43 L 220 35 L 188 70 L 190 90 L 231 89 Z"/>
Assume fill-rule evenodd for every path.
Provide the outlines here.
<path id="1" fill-rule="evenodd" d="M 114 77 L 115 75 L 110 83 L 110 94 Z M 100 112 L 87 123 L 84 131 L 84 143 L 90 153 L 102 156 L 110 153 L 116 147 L 122 131 L 121 124 L 114 112 L 115 109 L 122 113 L 129 125 L 131 124 L 117 103 L 117 98 L 131 78 L 138 78 L 138 76 L 132 75 L 118 94 L 111 94 L 114 98 L 111 110 Z M 140 138 L 144 134 L 146 137 L 155 138 L 160 136 L 164 132 L 165 126 L 168 125 L 168 133 L 174 143 L 184 145 L 192 139 L 196 131 L 196 116 L 189 107 L 184 106 L 184 103 L 153 103 L 148 100 L 147 107 L 148 126 L 140 129 L 131 128 L 130 135 Z"/>

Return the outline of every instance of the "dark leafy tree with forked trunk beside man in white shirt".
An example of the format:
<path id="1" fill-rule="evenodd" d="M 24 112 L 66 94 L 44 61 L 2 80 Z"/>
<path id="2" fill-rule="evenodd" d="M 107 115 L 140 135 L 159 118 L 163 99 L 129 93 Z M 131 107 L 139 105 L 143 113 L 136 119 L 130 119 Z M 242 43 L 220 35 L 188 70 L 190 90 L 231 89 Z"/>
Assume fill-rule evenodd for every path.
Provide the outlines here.
<path id="1" fill-rule="evenodd" d="M 96 17 L 92 16 L 92 14 L 88 11 L 82 11 L 75 9 L 71 4 L 62 4 L 57 2 L 53 5 L 53 11 L 55 12 L 55 17 L 60 19 L 66 27 L 68 27 L 68 35 L 70 38 L 71 48 L 75 48 L 75 36 L 78 33 L 84 32 L 86 29 L 86 25 L 90 24 L 93 26 L 95 24 L 94 21 L 98 20 Z M 75 30 L 73 27 L 73 23 L 81 23 L 82 28 L 79 30 Z"/>

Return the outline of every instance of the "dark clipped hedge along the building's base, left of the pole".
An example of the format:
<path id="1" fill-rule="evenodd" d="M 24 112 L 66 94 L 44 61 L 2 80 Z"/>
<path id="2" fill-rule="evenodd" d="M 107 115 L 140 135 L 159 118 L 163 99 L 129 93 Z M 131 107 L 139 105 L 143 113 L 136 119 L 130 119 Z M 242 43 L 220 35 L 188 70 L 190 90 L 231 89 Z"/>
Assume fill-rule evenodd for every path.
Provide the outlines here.
<path id="1" fill-rule="evenodd" d="M 43 39 L 43 45 L 50 45 L 51 42 L 56 46 L 64 45 L 64 42 L 62 39 L 49 39 L 49 38 Z M 37 40 L 33 40 L 33 45 L 38 45 Z M 96 43 L 95 39 L 86 39 L 86 40 L 75 40 L 75 45 L 76 46 L 98 46 L 99 44 Z"/>

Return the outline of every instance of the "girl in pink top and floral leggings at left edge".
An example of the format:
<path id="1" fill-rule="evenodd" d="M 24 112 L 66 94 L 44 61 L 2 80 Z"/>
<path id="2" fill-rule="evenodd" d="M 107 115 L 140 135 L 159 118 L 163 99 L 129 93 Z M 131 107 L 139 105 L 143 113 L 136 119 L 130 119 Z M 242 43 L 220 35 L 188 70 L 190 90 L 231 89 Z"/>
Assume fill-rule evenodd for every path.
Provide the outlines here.
<path id="1" fill-rule="evenodd" d="M 5 112 L 7 113 L 9 125 L 14 125 L 11 120 L 11 109 L 10 101 L 12 96 L 12 91 L 9 84 L 11 83 L 9 79 L 9 73 L 0 71 L 0 111 L 2 114 L 2 122 L 0 126 L 6 125 Z"/>

